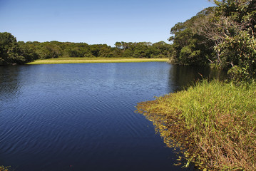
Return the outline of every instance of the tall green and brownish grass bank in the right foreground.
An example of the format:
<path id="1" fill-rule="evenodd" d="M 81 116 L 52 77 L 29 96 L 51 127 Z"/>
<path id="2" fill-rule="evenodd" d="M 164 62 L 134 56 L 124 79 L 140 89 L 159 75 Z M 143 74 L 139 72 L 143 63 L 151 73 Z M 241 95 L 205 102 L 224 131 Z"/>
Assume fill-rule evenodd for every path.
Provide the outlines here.
<path id="1" fill-rule="evenodd" d="M 169 147 L 208 170 L 256 170 L 256 86 L 219 81 L 139 103 Z"/>

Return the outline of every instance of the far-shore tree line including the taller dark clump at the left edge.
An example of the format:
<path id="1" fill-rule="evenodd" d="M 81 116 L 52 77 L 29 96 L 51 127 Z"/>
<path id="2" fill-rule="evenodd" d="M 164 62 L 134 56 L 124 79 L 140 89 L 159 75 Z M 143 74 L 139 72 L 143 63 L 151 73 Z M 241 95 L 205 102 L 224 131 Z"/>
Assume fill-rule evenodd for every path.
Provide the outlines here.
<path id="1" fill-rule="evenodd" d="M 23 64 L 36 59 L 46 58 L 168 58 L 170 44 L 160 41 L 116 42 L 115 47 L 106 44 L 16 41 L 11 33 L 0 33 L 0 65 Z"/>

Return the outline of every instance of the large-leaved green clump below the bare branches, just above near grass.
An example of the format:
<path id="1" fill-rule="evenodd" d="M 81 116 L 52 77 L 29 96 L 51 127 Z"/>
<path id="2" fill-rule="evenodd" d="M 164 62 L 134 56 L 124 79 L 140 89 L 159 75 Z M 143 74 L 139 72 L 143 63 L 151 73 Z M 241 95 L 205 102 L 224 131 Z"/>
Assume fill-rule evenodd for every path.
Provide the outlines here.
<path id="1" fill-rule="evenodd" d="M 236 80 L 247 80 L 256 75 L 256 39 L 247 31 L 225 38 L 220 43 L 221 57 L 232 64 L 229 74 Z"/>

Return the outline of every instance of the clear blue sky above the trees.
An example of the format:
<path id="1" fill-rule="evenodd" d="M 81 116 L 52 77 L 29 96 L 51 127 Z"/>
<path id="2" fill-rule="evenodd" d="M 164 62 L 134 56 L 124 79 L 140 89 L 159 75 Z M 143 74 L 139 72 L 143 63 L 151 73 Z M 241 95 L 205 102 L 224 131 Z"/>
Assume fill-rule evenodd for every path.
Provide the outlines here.
<path id="1" fill-rule="evenodd" d="M 17 41 L 168 43 L 170 28 L 208 0 L 0 0 L 0 32 Z"/>

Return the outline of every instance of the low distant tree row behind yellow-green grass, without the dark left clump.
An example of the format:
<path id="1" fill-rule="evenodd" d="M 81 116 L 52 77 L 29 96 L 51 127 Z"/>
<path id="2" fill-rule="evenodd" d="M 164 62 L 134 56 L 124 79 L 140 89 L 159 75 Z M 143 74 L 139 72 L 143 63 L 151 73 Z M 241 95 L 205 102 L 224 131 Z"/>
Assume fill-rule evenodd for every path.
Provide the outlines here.
<path id="1" fill-rule="evenodd" d="M 29 42 L 31 43 L 31 42 Z M 32 42 L 33 43 L 33 42 Z M 106 44 L 88 45 L 87 43 L 44 42 L 35 44 L 39 58 L 168 58 L 170 45 L 158 43 L 116 42 L 116 47 Z"/>

